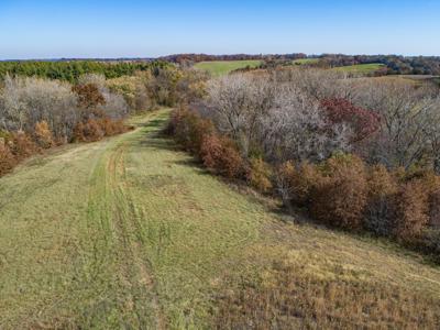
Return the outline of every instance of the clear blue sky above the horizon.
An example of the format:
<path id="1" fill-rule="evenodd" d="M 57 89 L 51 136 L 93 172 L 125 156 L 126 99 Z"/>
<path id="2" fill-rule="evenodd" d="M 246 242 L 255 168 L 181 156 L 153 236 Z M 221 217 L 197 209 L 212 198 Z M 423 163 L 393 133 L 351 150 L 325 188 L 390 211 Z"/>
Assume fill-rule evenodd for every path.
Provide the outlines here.
<path id="1" fill-rule="evenodd" d="M 0 59 L 440 55 L 438 0 L 0 0 Z"/>

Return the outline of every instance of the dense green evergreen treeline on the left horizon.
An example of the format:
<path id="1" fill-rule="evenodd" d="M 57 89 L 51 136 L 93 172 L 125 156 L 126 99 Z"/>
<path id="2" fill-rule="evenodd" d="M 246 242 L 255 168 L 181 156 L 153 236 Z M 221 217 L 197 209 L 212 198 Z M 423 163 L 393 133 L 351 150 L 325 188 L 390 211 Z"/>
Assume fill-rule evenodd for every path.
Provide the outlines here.
<path id="1" fill-rule="evenodd" d="M 166 62 L 119 62 L 103 63 L 97 61 L 72 62 L 0 62 L 0 78 L 7 74 L 11 76 L 41 77 L 59 79 L 75 84 L 86 74 L 101 74 L 106 78 L 132 76 L 135 72 L 146 72 L 154 68 L 164 68 Z"/>

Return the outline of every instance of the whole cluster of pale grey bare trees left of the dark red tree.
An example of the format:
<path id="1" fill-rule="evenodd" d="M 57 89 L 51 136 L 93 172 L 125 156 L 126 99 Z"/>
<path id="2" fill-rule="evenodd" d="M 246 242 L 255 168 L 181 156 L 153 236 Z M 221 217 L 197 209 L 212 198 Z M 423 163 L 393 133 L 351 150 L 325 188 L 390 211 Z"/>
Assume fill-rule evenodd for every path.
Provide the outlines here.
<path id="1" fill-rule="evenodd" d="M 318 161 L 349 151 L 348 125 L 329 127 L 319 101 L 295 80 L 299 77 L 237 74 L 212 80 L 205 116 L 244 156 L 262 150 L 273 161 Z"/>

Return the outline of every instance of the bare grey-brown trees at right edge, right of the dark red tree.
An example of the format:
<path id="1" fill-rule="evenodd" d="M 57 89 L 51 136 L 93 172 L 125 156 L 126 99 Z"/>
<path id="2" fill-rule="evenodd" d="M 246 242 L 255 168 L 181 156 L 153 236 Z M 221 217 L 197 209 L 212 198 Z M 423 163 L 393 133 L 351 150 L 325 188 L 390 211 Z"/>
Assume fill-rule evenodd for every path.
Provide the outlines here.
<path id="1" fill-rule="evenodd" d="M 409 168 L 431 157 L 440 127 L 439 98 L 403 81 L 373 81 L 363 88 L 358 102 L 382 118 L 381 132 L 371 143 L 371 161 Z"/>

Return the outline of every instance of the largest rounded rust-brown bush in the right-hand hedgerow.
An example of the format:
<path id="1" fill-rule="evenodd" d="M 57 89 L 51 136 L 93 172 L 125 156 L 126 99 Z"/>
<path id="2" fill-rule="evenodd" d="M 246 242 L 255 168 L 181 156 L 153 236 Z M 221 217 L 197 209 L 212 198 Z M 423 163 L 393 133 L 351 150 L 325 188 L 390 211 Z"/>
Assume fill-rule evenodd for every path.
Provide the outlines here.
<path id="1" fill-rule="evenodd" d="M 319 170 L 322 176 L 312 187 L 311 215 L 333 227 L 359 229 L 367 200 L 363 162 L 351 155 L 333 156 Z"/>

